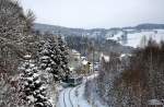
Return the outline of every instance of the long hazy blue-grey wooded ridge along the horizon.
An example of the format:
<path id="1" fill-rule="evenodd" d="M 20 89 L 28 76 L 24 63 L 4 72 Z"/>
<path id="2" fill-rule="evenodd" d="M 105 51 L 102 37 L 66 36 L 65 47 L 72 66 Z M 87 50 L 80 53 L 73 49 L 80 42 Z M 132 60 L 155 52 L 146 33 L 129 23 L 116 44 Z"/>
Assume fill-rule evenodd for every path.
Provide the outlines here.
<path id="1" fill-rule="evenodd" d="M 141 29 L 164 29 L 164 24 L 139 24 L 137 26 L 128 26 L 128 27 L 115 27 L 115 28 L 92 28 L 92 29 L 83 29 L 83 28 L 69 28 L 57 25 L 47 25 L 47 24 L 34 24 L 34 29 L 39 31 L 40 33 L 51 33 L 55 35 L 63 35 L 63 36 L 87 36 L 87 37 L 106 37 L 106 35 L 117 34 L 117 32 L 127 32 L 127 29 L 133 29 L 136 32 Z"/>

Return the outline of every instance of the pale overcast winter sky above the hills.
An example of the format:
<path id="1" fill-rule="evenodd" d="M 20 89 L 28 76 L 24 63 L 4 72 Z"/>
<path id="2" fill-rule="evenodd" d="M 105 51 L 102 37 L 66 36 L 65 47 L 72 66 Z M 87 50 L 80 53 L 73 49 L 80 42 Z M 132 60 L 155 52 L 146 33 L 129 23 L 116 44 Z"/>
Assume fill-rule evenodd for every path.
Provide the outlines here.
<path id="1" fill-rule="evenodd" d="M 164 0 L 20 0 L 36 22 L 67 27 L 122 27 L 164 23 Z"/>

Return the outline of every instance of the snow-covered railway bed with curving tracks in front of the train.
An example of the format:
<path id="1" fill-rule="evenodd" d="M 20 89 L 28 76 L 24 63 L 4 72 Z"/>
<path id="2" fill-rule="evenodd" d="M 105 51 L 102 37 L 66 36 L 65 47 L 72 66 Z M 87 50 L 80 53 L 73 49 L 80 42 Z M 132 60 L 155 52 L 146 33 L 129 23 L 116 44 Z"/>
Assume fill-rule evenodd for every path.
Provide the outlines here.
<path id="1" fill-rule="evenodd" d="M 75 87 L 63 88 L 59 94 L 57 107 L 92 107 L 83 96 L 85 91 L 84 86 L 85 82 Z"/>

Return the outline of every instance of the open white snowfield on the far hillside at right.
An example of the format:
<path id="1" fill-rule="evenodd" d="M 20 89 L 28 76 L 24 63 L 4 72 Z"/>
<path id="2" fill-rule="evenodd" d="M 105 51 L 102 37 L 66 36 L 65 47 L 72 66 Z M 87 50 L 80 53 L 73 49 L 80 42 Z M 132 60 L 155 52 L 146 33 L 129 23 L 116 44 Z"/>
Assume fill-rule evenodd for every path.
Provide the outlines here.
<path id="1" fill-rule="evenodd" d="M 106 36 L 106 39 L 113 39 L 124 46 L 137 48 L 140 47 L 143 36 L 145 36 L 147 40 L 153 38 L 159 43 L 164 40 L 164 29 L 119 31 L 115 35 Z"/>

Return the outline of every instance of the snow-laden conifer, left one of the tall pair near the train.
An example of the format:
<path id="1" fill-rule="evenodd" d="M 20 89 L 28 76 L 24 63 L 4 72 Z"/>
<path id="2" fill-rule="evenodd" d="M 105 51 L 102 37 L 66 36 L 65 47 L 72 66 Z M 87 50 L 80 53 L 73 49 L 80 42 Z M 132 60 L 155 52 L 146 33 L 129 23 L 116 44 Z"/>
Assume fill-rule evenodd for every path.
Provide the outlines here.
<path id="1" fill-rule="evenodd" d="M 39 69 L 43 71 L 42 74 L 43 79 L 49 83 L 49 79 L 47 76 L 48 73 L 52 73 L 54 70 L 58 69 L 58 66 L 55 61 L 57 58 L 56 50 L 57 44 L 52 43 L 51 39 L 42 40 L 39 44 L 39 51 L 38 51 L 38 64 Z M 56 80 L 59 80 L 58 71 L 56 72 Z M 55 76 L 55 75 L 54 75 Z"/>

